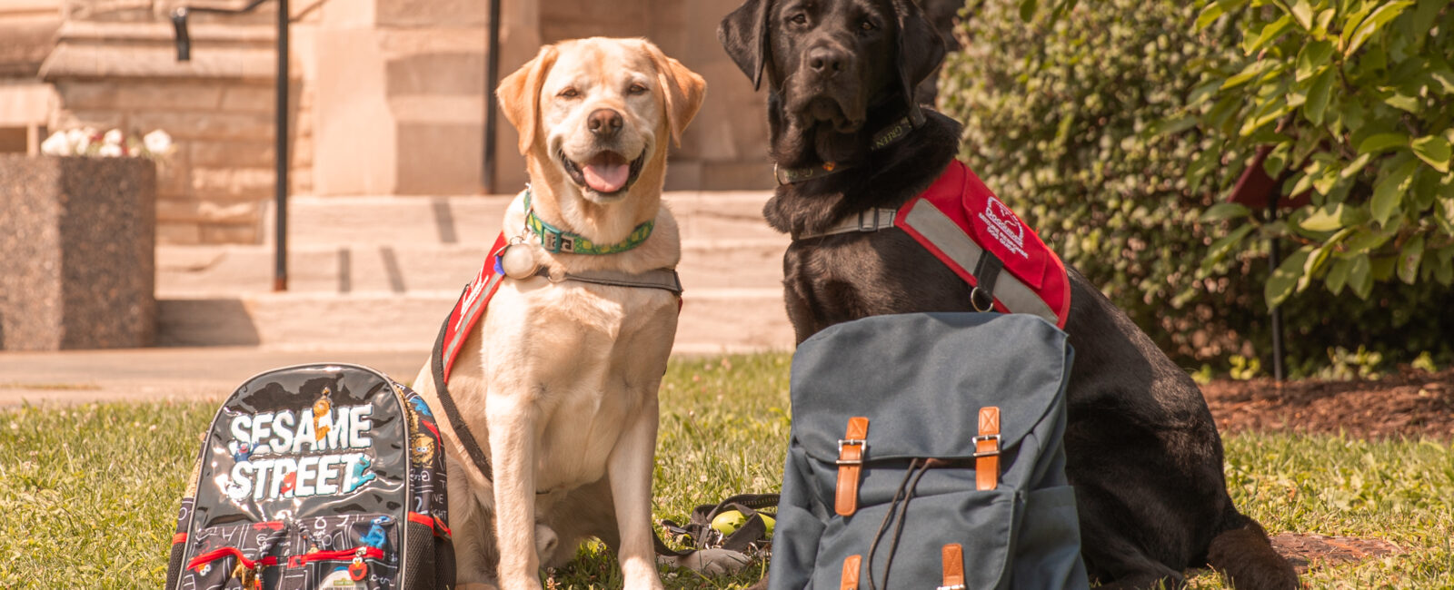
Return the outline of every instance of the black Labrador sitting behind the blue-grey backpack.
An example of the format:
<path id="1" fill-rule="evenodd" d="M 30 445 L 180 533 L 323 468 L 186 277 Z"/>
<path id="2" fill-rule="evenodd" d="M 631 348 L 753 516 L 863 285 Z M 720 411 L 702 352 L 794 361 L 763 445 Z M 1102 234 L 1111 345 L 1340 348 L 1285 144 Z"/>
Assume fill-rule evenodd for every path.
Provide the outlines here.
<path id="1" fill-rule="evenodd" d="M 960 124 L 915 99 L 945 48 L 912 0 L 747 0 L 718 38 L 755 84 L 768 81 L 784 183 L 763 215 L 779 231 L 897 208 L 958 151 Z M 907 137 L 884 147 L 883 129 L 906 119 Z M 897 228 L 794 240 L 782 266 L 800 343 L 865 315 L 971 308 L 970 286 Z M 1227 496 L 1197 384 L 1085 276 L 1070 280 L 1066 452 L 1090 575 L 1105 589 L 1175 587 L 1182 570 L 1210 564 L 1239 589 L 1296 589 L 1293 567 Z"/>

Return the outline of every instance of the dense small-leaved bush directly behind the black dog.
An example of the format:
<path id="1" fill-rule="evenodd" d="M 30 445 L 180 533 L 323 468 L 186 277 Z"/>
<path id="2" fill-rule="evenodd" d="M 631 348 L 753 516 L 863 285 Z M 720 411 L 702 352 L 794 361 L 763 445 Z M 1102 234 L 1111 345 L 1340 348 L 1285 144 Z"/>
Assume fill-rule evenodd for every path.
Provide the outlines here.
<path id="1" fill-rule="evenodd" d="M 1185 264 L 1211 243 L 1200 218 L 1213 195 L 1184 173 L 1210 140 L 1150 134 L 1185 106 L 1195 62 L 1233 58 L 1216 49 L 1230 28 L 1192 33 L 1197 10 L 1176 1 L 1077 3 L 1028 22 L 1021 7 L 971 0 L 963 13 L 964 49 L 941 78 L 941 108 L 965 124 L 961 155 L 1163 349 L 1250 356 L 1233 330 L 1200 328 L 1229 311 L 1245 315 L 1233 326 L 1256 321 L 1242 280 L 1198 282 Z"/>

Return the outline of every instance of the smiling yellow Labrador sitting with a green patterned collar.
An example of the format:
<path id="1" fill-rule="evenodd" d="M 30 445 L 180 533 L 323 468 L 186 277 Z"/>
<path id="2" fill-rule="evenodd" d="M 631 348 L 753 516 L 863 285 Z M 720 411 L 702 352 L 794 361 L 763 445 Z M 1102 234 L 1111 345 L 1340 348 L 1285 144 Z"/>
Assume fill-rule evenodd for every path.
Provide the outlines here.
<path id="1" fill-rule="evenodd" d="M 461 589 L 539 589 L 539 568 L 590 536 L 616 549 L 627 589 L 662 587 L 651 471 L 679 299 L 573 278 L 676 266 L 676 221 L 660 201 L 666 154 L 705 87 L 644 39 L 603 38 L 544 47 L 500 83 L 531 186 L 505 215 L 510 278 L 448 378 L 493 474 L 439 421 Z M 416 388 L 439 407 L 430 365 Z"/>

